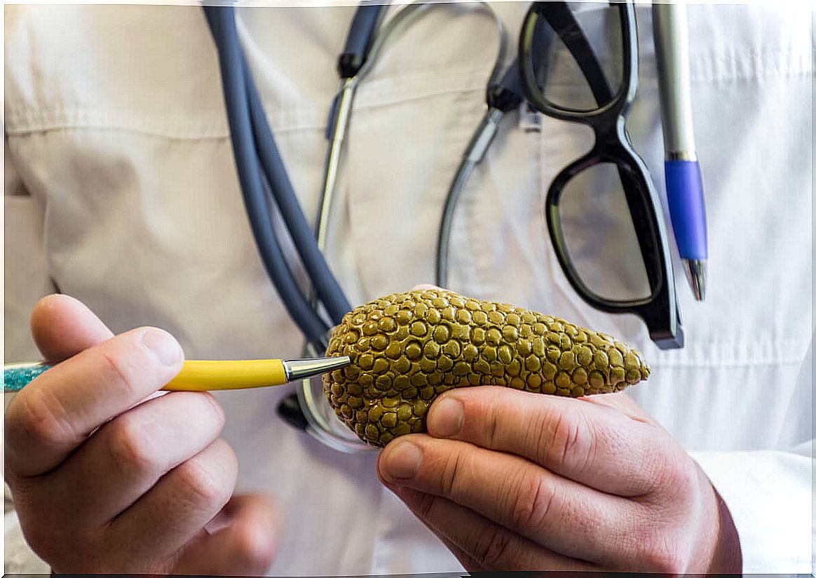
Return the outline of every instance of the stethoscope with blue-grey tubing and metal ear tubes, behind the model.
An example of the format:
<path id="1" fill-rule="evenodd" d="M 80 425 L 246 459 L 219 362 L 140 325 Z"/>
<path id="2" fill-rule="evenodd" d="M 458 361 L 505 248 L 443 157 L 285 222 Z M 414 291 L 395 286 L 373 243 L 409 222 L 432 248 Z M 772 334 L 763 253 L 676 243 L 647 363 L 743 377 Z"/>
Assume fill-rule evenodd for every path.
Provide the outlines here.
<path id="1" fill-rule="evenodd" d="M 450 230 L 462 189 L 473 169 L 484 158 L 503 115 L 517 109 L 524 101 L 517 60 L 503 74 L 499 74 L 508 44 L 507 33 L 499 16 L 486 2 L 457 5 L 462 6 L 482 11 L 494 20 L 499 47 L 487 82 L 486 112 L 463 153 L 441 219 L 436 266 L 436 282 L 440 287 L 447 286 Z M 264 268 L 290 317 L 304 334 L 304 354 L 321 354 L 326 349 L 330 327 L 338 324 L 351 310 L 339 282 L 326 263 L 323 250 L 357 88 L 370 73 L 386 43 L 434 7 L 450 9 L 450 5 L 444 3 L 408 4 L 382 25 L 384 5 L 366 3 L 357 8 L 344 51 L 338 59 L 340 88 L 326 131 L 330 145 L 314 228 L 308 225 L 275 144 L 238 39 L 234 9 L 204 7 L 218 48 L 230 136 L 246 212 Z M 537 42 L 543 47 L 549 38 L 542 33 L 542 38 Z M 543 50 L 536 52 L 544 53 Z M 312 282 L 312 293 L 308 296 L 298 287 L 290 265 L 284 259 L 273 228 L 273 203 L 280 211 L 299 260 Z M 278 413 L 291 425 L 304 429 L 338 451 L 371 451 L 331 414 L 327 405 L 321 403 L 322 398 L 322 386 L 316 386 L 312 380 L 304 380 L 297 388 L 296 396 L 282 401 Z"/>

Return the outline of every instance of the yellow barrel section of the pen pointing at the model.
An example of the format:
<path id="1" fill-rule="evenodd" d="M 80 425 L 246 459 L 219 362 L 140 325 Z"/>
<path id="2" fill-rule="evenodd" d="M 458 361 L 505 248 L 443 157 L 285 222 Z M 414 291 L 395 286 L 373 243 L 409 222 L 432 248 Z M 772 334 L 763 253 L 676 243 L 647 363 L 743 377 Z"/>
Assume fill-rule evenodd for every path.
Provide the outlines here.
<path id="1" fill-rule="evenodd" d="M 286 369 L 281 359 L 246 359 L 240 361 L 184 362 L 178 376 L 162 389 L 167 391 L 209 391 L 214 389 L 247 389 L 283 385 Z"/>

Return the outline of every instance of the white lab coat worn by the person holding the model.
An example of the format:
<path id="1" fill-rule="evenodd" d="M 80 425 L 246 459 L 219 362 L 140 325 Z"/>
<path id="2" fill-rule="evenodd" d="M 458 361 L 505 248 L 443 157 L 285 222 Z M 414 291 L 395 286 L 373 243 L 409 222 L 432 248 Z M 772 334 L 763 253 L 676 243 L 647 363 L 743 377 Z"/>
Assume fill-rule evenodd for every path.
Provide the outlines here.
<path id="1" fill-rule="evenodd" d="M 526 4 L 495 5 L 515 44 Z M 629 119 L 663 191 L 650 8 Z M 238 11 L 277 143 L 309 220 L 352 7 Z M 690 6 L 691 82 L 707 193 L 710 288 L 675 260 L 685 349 L 590 309 L 557 265 L 543 193 L 588 131 L 504 119 L 463 194 L 450 287 L 631 341 L 652 364 L 632 397 L 698 460 L 729 505 L 746 572 L 813 568 L 812 15 Z M 357 96 L 327 256 L 353 304 L 432 281 L 437 223 L 483 112 L 493 24 L 441 5 L 389 47 Z M 301 337 L 262 268 L 237 189 L 215 48 L 197 7 L 6 7 L 8 360 L 36 357 L 35 300 L 59 290 L 113 331 L 164 327 L 188 358 L 297 356 Z M 676 251 L 675 257 L 676 257 Z M 375 477 L 278 419 L 288 388 L 220 394 L 239 490 L 270 491 L 286 529 L 270 572 L 458 571 Z M 7 571 L 39 567 L 7 519 Z"/>

